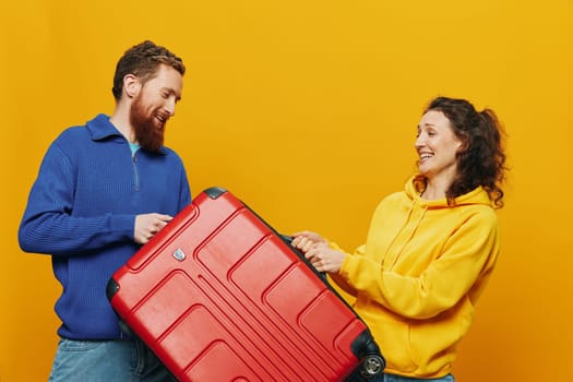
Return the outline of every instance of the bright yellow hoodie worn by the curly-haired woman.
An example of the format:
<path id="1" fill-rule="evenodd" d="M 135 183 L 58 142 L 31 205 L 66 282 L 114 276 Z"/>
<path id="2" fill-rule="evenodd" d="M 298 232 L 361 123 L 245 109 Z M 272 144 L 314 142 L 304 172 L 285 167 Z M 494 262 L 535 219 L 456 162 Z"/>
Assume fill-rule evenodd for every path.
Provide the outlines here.
<path id="1" fill-rule="evenodd" d="M 382 200 L 366 244 L 333 278 L 356 296 L 386 372 L 439 378 L 451 372 L 498 252 L 498 218 L 484 189 L 449 206 L 421 199 L 410 178 Z"/>

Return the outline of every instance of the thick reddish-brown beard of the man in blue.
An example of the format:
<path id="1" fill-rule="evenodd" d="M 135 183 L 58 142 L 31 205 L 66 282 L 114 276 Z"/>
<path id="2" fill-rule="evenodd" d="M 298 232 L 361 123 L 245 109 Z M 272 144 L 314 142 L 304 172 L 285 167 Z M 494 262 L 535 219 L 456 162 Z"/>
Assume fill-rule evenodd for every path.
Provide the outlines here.
<path id="1" fill-rule="evenodd" d="M 140 146 L 153 153 L 159 152 L 164 142 L 165 123 L 159 127 L 159 121 L 155 118 L 154 112 L 145 114 L 141 96 L 138 96 L 131 104 L 130 122 Z"/>

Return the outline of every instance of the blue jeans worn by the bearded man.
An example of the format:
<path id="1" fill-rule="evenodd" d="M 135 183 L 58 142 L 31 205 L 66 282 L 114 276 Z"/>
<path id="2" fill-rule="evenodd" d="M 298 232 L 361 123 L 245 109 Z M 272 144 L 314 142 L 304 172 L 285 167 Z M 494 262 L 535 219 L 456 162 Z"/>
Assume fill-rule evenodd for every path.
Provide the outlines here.
<path id="1" fill-rule="evenodd" d="M 50 382 L 177 381 L 139 339 L 74 341 L 61 338 Z"/>

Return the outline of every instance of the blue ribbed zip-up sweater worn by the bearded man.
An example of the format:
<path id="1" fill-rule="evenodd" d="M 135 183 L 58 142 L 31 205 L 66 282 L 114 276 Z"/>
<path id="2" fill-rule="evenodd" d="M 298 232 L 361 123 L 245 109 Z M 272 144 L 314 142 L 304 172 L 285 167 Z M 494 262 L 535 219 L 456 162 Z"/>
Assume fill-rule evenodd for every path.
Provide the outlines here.
<path id="1" fill-rule="evenodd" d="M 135 216 L 175 216 L 191 202 L 180 157 L 139 150 L 99 115 L 63 131 L 48 148 L 19 230 L 26 252 L 52 255 L 62 285 L 58 334 L 74 339 L 121 336 L 107 297 L 114 272 L 138 249 Z"/>

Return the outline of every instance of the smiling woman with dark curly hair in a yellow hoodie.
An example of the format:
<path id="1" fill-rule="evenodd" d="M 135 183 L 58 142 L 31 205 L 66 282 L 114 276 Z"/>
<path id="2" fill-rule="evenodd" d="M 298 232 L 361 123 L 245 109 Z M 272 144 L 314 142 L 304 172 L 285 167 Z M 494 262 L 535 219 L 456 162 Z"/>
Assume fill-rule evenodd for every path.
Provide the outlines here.
<path id="1" fill-rule="evenodd" d="M 318 234 L 294 246 L 356 297 L 387 366 L 375 381 L 454 381 L 452 362 L 500 248 L 505 154 L 494 112 L 439 97 L 418 124 L 418 174 L 377 207 L 347 253 Z"/>

